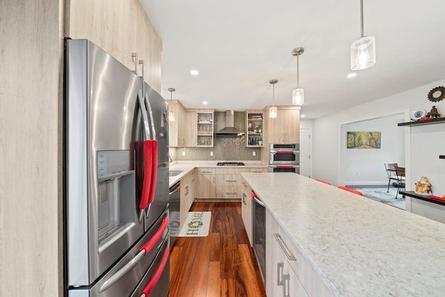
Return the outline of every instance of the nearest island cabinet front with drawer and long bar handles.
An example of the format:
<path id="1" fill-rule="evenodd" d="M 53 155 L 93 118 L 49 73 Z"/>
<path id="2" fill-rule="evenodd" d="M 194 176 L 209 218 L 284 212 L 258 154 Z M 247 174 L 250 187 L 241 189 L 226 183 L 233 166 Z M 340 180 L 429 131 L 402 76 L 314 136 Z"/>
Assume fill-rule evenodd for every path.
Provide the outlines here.
<path id="1" fill-rule="evenodd" d="M 266 294 L 332 296 L 270 211 L 266 211 Z"/>

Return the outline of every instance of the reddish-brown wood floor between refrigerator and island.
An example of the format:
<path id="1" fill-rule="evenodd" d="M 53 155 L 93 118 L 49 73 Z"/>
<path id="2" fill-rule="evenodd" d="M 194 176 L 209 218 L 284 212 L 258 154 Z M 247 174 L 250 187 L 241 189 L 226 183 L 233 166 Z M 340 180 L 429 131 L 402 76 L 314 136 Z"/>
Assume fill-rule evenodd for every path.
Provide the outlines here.
<path id="1" fill-rule="evenodd" d="M 191 211 L 211 211 L 209 236 L 177 239 L 170 253 L 168 296 L 266 296 L 241 203 L 195 202 Z"/>

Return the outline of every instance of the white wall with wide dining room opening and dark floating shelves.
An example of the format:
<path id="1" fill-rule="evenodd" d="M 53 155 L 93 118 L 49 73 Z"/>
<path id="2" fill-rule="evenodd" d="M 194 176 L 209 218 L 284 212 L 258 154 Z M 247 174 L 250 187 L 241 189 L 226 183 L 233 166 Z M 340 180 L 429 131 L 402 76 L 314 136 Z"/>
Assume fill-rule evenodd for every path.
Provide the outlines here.
<path id="1" fill-rule="evenodd" d="M 323 118 L 314 120 L 314 178 L 324 179 L 332 184 L 344 184 L 344 178 L 341 177 L 342 169 L 340 162 L 342 124 L 380 118 L 396 113 L 404 113 L 405 121 L 409 121 L 410 113 L 412 111 L 416 111 L 420 108 L 426 109 L 427 111 L 431 109 L 433 104 L 427 99 L 428 92 L 430 92 L 432 88 L 444 85 L 445 79 L 429 83 L 419 88 L 407 90 L 403 93 L 378 99 L 373 102 L 354 106 L 339 113 L 326 115 Z M 439 113 L 445 113 L 444 101 L 434 105 L 437 106 Z M 445 137 L 439 132 L 445 130 L 444 125 L 445 124 L 420 127 L 398 127 L 405 131 L 407 190 L 412 189 L 416 179 L 419 179 L 420 175 L 423 174 L 430 178 L 433 186 L 438 192 L 437 194 L 445 194 L 445 189 L 439 186 L 439 182 L 442 181 L 443 183 L 445 179 L 445 160 L 438 159 L 439 154 L 445 154 Z M 429 135 L 424 134 L 426 131 L 436 129 L 439 131 L 436 131 L 435 134 L 431 134 L 432 137 L 430 137 L 429 141 L 422 139 Z M 411 130 L 413 131 L 412 136 L 410 134 Z M 432 142 L 434 145 L 432 145 Z M 432 156 L 432 159 L 426 159 L 423 156 Z M 428 168 L 422 169 L 423 167 Z"/>

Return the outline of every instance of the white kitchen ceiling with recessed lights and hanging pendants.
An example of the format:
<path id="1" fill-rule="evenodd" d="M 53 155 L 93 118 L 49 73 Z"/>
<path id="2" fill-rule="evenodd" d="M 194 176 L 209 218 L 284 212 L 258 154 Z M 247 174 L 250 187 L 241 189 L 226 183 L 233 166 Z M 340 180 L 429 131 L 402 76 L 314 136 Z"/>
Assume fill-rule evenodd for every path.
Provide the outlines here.
<path id="1" fill-rule="evenodd" d="M 364 0 L 377 63 L 348 79 L 359 0 L 140 0 L 163 41 L 161 95 L 218 111 L 290 105 L 300 56 L 302 113 L 318 118 L 445 79 L 445 0 Z M 199 70 L 193 77 L 190 70 Z M 428 90 L 429 91 L 429 90 Z M 426 91 L 425 98 L 428 95 Z"/>

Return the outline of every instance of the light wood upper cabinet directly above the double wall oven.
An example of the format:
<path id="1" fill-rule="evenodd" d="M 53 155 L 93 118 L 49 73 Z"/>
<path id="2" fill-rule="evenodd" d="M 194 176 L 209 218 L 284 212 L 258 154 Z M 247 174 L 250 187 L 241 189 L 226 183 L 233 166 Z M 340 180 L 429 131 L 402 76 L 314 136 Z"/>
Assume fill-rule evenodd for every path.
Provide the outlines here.
<path id="1" fill-rule="evenodd" d="M 277 118 L 264 109 L 266 143 L 300 143 L 300 106 L 277 106 Z"/>

